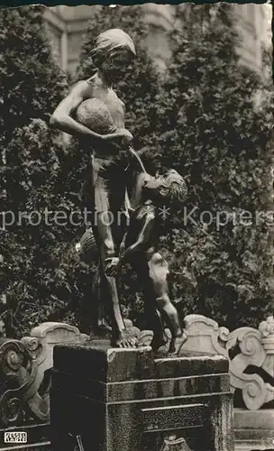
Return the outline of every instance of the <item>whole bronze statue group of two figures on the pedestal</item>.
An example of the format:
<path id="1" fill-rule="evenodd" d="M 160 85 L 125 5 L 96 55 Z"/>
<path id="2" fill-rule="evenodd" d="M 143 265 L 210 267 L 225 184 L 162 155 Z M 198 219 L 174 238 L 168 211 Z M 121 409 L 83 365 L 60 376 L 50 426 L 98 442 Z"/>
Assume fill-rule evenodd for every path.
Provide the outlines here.
<path id="1" fill-rule="evenodd" d="M 172 336 L 169 351 L 173 352 L 176 340 L 182 342 L 185 336 L 177 309 L 169 300 L 169 266 L 158 252 L 159 207 L 165 201 L 185 198 L 186 184 L 175 170 L 162 177 L 150 176 L 132 149 L 132 134 L 124 128 L 124 105 L 114 93 L 113 83 L 135 57 L 132 39 L 118 29 L 103 32 L 96 38 L 92 57 L 96 74 L 72 87 L 50 124 L 78 136 L 90 149 L 87 209 L 95 213 L 91 227 L 98 254 L 93 328 L 110 329 L 114 347 L 136 345 L 123 321 L 117 283 L 118 270 L 127 260 L 142 284 L 146 316 L 154 334 L 151 345 L 158 349 L 166 342 L 166 325 Z M 124 152 L 126 158 L 121 159 Z M 135 166 L 133 172 L 129 166 Z M 122 211 L 131 214 L 126 234 Z M 82 244 L 86 241 L 86 247 L 94 252 L 93 240 L 88 240 L 87 234 Z M 110 319 L 110 327 L 105 317 Z"/>

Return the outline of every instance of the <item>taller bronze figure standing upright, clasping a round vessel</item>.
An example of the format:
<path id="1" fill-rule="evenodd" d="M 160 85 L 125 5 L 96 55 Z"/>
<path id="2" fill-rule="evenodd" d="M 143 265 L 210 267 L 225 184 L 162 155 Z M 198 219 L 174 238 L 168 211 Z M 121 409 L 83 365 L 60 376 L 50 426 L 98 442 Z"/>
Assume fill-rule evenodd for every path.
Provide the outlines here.
<path id="1" fill-rule="evenodd" d="M 132 152 L 132 133 L 124 128 L 124 105 L 115 94 L 113 83 L 121 77 L 121 69 L 127 68 L 134 57 L 134 44 L 128 34 L 118 29 L 102 32 L 92 51 L 96 74 L 72 87 L 50 119 L 52 126 L 85 139 L 85 145 L 90 147 L 87 208 L 96 212 L 96 221 L 94 216 L 91 226 L 99 250 L 100 296 L 104 298 L 111 319 L 112 345 L 119 347 L 134 346 L 135 338 L 123 322 L 116 276 L 107 275 L 105 267 L 119 254 L 123 238 L 119 214 L 125 199 L 126 161 L 121 163 L 117 157 L 121 151 Z M 96 124 L 93 126 L 92 121 L 89 121 L 89 126 L 78 122 L 81 117 L 78 107 L 94 98 L 101 101 L 98 110 L 102 109 L 103 103 L 111 115 L 114 126 L 109 127 L 109 133 L 96 131 Z"/>

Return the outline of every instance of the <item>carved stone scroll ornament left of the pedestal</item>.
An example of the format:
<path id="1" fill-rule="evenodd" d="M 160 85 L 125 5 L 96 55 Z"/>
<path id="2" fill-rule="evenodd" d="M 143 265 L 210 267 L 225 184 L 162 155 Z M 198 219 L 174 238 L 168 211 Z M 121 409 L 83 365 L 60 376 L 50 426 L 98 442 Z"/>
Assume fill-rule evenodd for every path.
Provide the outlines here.
<path id="1" fill-rule="evenodd" d="M 21 340 L 0 344 L 1 427 L 19 426 L 33 419 L 50 419 L 50 369 L 53 346 L 87 339 L 77 327 L 43 323 Z"/>

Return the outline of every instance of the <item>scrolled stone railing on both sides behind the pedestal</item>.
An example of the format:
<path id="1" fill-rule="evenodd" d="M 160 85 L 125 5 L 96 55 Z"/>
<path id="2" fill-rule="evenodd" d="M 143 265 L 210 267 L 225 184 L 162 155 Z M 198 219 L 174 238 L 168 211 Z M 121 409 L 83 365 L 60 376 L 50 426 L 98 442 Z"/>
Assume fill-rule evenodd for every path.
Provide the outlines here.
<path id="1" fill-rule="evenodd" d="M 242 392 L 247 410 L 259 410 L 274 400 L 273 317 L 261 322 L 259 329 L 240 327 L 233 332 L 200 315 L 187 316 L 185 323 L 184 350 L 227 357 L 231 390 Z M 77 327 L 43 323 L 21 340 L 0 340 L 0 428 L 50 420 L 53 347 L 86 339 Z"/>

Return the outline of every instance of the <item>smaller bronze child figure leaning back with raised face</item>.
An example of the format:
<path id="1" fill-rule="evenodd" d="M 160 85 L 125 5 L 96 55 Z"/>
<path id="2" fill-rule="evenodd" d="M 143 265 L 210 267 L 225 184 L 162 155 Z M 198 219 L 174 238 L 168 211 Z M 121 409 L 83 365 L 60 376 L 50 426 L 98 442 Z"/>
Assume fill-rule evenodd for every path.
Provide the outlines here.
<path id="1" fill-rule="evenodd" d="M 152 177 L 147 172 L 136 176 L 135 189 L 130 199 L 131 220 L 124 238 L 124 250 L 119 257 L 108 260 L 107 273 L 114 275 L 123 262 L 130 262 L 137 273 L 144 295 L 144 308 L 154 336 L 151 343 L 157 350 L 166 344 L 164 324 L 169 327 L 169 352 L 176 351 L 176 341 L 182 345 L 187 337 L 183 333 L 178 311 L 169 299 L 169 264 L 159 253 L 160 207 L 170 202 L 183 202 L 187 198 L 187 185 L 177 170 L 163 176 Z"/>

